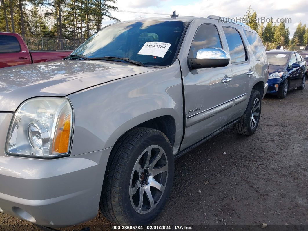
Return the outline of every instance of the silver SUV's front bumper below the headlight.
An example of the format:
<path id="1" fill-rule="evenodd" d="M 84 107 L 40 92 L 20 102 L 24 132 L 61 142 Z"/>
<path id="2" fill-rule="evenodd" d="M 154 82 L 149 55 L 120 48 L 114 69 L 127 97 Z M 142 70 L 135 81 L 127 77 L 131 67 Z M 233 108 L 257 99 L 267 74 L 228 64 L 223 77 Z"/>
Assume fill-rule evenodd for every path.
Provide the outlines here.
<path id="1" fill-rule="evenodd" d="M 11 115 L 0 113 L 1 150 Z M 50 227 L 75 225 L 95 217 L 110 151 L 59 159 L 15 157 L 1 151 L 0 211 Z"/>

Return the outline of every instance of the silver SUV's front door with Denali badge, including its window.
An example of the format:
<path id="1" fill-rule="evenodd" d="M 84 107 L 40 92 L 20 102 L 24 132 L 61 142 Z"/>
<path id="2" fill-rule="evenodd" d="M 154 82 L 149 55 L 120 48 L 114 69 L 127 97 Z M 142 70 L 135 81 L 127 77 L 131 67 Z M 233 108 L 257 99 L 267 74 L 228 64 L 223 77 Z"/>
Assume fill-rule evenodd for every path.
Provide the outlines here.
<path id="1" fill-rule="evenodd" d="M 223 48 L 217 28 L 202 24 L 195 34 L 188 58 L 196 58 L 202 48 Z M 231 63 L 226 67 L 200 68 L 183 77 L 186 129 L 181 149 L 198 142 L 229 122 L 228 109 L 233 105 Z"/>

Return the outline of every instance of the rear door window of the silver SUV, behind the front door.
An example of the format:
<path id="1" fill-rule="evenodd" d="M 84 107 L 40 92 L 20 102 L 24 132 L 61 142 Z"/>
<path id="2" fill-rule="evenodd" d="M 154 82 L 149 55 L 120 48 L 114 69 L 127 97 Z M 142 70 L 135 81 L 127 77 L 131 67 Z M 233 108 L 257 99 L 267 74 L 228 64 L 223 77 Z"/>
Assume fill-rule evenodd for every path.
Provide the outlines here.
<path id="1" fill-rule="evenodd" d="M 245 62 L 247 56 L 241 35 L 233 28 L 223 27 L 223 29 L 229 47 L 231 63 Z"/>

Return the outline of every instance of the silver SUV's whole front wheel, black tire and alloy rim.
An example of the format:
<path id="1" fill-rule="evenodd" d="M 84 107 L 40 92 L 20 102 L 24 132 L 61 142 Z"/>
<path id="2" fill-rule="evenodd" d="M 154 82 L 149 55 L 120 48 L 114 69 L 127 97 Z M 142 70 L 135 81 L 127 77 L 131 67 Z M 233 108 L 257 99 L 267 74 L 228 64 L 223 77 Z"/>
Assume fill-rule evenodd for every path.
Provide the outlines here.
<path id="1" fill-rule="evenodd" d="M 146 225 L 164 208 L 174 175 L 172 146 L 160 131 L 135 128 L 111 152 L 100 210 L 119 225 Z"/>

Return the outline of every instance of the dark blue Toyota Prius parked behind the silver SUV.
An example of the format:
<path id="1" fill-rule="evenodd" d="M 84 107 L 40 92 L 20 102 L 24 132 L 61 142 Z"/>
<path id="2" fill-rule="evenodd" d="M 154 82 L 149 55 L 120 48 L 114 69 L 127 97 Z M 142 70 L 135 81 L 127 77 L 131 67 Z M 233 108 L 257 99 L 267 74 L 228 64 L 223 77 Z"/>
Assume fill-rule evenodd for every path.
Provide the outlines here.
<path id="1" fill-rule="evenodd" d="M 294 88 L 304 89 L 307 66 L 298 52 L 276 50 L 268 51 L 266 55 L 270 65 L 267 94 L 284 98 Z"/>

